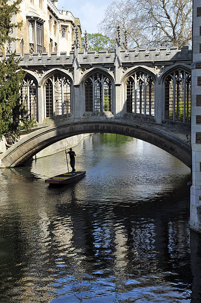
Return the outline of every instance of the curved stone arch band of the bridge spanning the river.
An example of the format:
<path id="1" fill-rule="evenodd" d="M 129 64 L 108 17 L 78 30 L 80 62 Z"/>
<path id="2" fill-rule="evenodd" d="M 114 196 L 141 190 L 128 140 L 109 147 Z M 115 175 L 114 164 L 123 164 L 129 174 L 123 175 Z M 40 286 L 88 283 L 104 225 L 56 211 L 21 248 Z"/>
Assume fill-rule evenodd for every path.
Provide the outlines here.
<path id="1" fill-rule="evenodd" d="M 51 144 L 83 133 L 113 133 L 151 143 L 191 166 L 191 148 L 165 131 L 153 127 L 139 127 L 128 123 L 109 121 L 81 121 L 60 123 L 37 130 L 21 139 L 2 154 L 0 167 L 22 165 Z"/>

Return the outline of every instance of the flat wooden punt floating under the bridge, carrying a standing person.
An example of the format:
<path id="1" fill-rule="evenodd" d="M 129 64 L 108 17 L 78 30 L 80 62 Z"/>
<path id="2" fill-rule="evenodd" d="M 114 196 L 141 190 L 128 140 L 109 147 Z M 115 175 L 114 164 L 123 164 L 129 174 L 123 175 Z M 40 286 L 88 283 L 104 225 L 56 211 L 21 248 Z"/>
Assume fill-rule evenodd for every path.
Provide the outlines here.
<path id="1" fill-rule="evenodd" d="M 85 176 L 86 171 L 76 171 L 75 176 L 72 174 L 72 172 L 67 172 L 55 177 L 51 177 L 50 179 L 45 180 L 45 182 L 50 184 L 71 184 L 82 179 Z"/>

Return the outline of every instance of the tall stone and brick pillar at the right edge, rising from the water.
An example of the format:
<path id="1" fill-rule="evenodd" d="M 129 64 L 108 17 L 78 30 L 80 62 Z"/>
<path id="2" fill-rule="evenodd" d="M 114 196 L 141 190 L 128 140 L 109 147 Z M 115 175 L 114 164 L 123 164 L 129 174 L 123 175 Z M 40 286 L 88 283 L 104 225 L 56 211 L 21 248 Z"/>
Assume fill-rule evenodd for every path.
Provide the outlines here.
<path id="1" fill-rule="evenodd" d="M 191 229 L 201 232 L 201 1 L 193 1 Z"/>

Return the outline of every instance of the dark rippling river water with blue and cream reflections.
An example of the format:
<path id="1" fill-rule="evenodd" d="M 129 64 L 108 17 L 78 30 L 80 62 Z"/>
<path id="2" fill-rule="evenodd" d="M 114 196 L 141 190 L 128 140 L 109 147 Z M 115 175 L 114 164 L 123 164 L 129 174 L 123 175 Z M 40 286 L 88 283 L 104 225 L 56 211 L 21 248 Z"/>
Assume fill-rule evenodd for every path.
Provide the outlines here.
<path id="1" fill-rule="evenodd" d="M 0 170 L 0 302 L 201 302 L 201 237 L 189 231 L 190 170 L 111 134 Z M 191 240 L 190 240 L 191 239 Z"/>

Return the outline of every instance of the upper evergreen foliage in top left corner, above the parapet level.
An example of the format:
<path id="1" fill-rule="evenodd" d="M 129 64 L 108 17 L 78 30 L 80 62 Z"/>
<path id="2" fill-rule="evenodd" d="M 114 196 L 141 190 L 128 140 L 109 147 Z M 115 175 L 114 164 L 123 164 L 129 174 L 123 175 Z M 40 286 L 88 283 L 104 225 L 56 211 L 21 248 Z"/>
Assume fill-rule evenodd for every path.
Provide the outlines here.
<path id="1" fill-rule="evenodd" d="M 21 28 L 23 22 L 12 23 L 11 18 L 14 14 L 20 12 L 19 5 L 22 0 L 15 0 L 12 4 L 8 4 L 8 0 L 0 0 L 0 46 L 8 42 L 16 41 L 17 39 L 11 37 L 15 28 Z"/>

